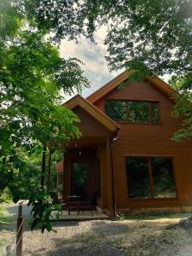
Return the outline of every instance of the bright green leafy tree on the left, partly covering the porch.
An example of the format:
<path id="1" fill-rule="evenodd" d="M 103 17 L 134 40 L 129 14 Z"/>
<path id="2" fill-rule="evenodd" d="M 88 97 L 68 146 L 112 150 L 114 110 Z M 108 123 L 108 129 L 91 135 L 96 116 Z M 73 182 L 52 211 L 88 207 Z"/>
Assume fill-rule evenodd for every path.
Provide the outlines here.
<path id="1" fill-rule="evenodd" d="M 8 187 L 16 202 L 22 198 L 22 177 L 32 155 L 49 141 L 67 142 L 79 137 L 78 117 L 61 106 L 63 93 L 81 90 L 89 83 L 77 59 L 65 60 L 46 39 L 36 22 L 20 12 L 20 1 L 0 3 L 0 194 Z M 40 143 L 40 145 L 39 145 Z M 34 170 L 33 170 L 34 171 Z M 25 175 L 24 175 L 25 176 Z M 51 230 L 48 195 L 27 181 L 33 224 Z M 31 188 L 31 189 L 30 189 Z"/>

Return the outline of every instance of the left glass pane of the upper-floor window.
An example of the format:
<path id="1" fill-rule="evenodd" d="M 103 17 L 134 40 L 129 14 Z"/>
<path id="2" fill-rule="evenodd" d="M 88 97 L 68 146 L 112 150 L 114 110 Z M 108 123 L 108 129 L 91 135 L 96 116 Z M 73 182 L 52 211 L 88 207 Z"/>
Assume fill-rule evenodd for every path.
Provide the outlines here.
<path id="1" fill-rule="evenodd" d="M 107 101 L 105 102 L 105 113 L 114 121 L 126 121 L 126 103 Z"/>

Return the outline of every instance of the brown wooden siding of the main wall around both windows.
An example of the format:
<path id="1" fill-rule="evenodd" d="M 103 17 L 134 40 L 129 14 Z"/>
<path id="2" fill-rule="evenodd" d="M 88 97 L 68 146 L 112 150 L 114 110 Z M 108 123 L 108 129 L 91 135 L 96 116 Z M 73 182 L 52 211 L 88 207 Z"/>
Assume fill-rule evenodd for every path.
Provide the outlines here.
<path id="1" fill-rule="evenodd" d="M 192 204 L 192 143 L 174 143 L 172 134 L 181 126 L 173 119 L 172 101 L 153 85 L 131 82 L 124 89 L 114 89 L 95 103 L 104 112 L 105 100 L 141 100 L 160 102 L 161 124 L 119 123 L 119 138 L 114 143 L 116 201 L 119 208 L 177 207 Z M 172 156 L 177 199 L 129 199 L 125 156 Z"/>

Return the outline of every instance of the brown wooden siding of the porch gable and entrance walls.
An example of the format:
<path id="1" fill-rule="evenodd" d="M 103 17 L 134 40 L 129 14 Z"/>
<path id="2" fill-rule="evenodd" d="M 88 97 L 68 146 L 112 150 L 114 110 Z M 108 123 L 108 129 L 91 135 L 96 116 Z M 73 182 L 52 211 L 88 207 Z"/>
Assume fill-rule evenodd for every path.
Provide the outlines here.
<path id="1" fill-rule="evenodd" d="M 67 201 L 67 196 L 71 195 L 73 162 L 88 163 L 87 199 L 91 199 L 93 193 L 98 189 L 96 161 L 100 160 L 102 191 L 99 206 L 107 209 L 109 206 L 108 172 L 110 168 L 110 163 L 108 164 L 110 160 L 108 156 L 107 142 L 112 134 L 110 131 L 108 131 L 108 129 L 105 128 L 105 126 L 91 117 L 89 113 L 86 113 L 84 109 L 77 107 L 74 108 L 73 111 L 81 120 L 77 126 L 82 132 L 83 137 L 80 137 L 79 140 L 73 140 L 72 142 L 68 143 L 66 147 L 67 152 L 64 154 L 63 199 Z M 81 154 L 79 154 L 79 150 L 81 151 Z"/>

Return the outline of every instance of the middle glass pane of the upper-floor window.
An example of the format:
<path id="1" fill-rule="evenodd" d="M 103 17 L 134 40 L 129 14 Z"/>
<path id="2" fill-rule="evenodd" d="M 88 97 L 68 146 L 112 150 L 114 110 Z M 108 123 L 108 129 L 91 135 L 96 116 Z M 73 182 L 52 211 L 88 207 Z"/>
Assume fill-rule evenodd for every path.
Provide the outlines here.
<path id="1" fill-rule="evenodd" d="M 148 102 L 129 102 L 129 121 L 135 123 L 148 123 Z"/>

